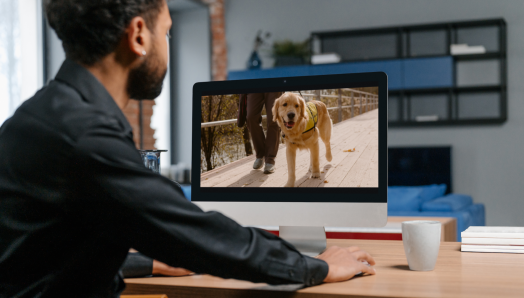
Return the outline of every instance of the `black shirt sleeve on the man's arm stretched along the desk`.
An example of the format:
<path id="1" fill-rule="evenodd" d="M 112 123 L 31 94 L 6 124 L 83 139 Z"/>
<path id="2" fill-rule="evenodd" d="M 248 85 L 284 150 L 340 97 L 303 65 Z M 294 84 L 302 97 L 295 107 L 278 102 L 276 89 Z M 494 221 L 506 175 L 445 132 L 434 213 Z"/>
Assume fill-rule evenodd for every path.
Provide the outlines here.
<path id="1" fill-rule="evenodd" d="M 149 257 L 270 284 L 315 285 L 328 274 L 326 262 L 301 255 L 282 239 L 188 202 L 170 180 L 146 169 L 132 141 L 110 124 L 90 129 L 76 151 L 79 190 L 94 201 L 75 207 L 96 207 L 100 229 L 111 228 L 119 241 Z"/>

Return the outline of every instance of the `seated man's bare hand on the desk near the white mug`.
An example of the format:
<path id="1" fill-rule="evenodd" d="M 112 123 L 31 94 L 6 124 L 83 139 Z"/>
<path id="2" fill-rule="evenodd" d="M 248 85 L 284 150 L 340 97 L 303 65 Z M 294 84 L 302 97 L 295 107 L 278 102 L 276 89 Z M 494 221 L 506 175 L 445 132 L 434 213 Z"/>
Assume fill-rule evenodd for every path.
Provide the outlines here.
<path id="1" fill-rule="evenodd" d="M 324 282 L 344 281 L 352 278 L 359 272 L 375 274 L 375 269 L 362 263 L 366 261 L 369 265 L 375 265 L 375 260 L 367 252 L 356 246 L 342 248 L 332 246 L 317 257 L 329 265 L 328 275 Z"/>

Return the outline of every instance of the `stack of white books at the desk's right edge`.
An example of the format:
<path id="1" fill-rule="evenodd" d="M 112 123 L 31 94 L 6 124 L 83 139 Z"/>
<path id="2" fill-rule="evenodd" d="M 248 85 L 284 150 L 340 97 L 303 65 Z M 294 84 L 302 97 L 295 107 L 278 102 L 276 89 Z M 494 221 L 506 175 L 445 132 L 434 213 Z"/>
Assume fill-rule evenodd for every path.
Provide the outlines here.
<path id="1" fill-rule="evenodd" d="M 524 227 L 469 227 L 461 251 L 524 253 Z"/>

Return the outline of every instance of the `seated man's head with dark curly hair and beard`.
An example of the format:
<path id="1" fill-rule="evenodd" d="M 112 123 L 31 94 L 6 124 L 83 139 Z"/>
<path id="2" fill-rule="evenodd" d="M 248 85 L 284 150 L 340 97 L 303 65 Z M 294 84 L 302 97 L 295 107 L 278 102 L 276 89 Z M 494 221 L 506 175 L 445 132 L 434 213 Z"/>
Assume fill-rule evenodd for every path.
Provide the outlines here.
<path id="1" fill-rule="evenodd" d="M 129 69 L 129 97 L 160 94 L 171 28 L 165 0 L 46 0 L 46 14 L 68 59 L 93 66 L 112 55 Z"/>

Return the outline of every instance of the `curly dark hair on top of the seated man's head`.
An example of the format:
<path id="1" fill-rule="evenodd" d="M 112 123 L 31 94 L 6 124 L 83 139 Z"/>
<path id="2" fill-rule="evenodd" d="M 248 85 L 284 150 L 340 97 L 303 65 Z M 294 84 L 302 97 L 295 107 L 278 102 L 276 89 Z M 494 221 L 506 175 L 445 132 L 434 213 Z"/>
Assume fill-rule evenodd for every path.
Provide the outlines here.
<path id="1" fill-rule="evenodd" d="M 49 25 L 66 57 L 93 65 L 113 52 L 136 16 L 153 30 L 165 0 L 45 0 Z"/>

